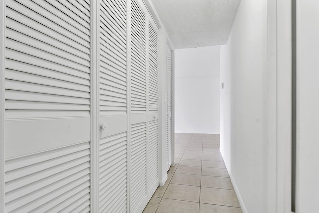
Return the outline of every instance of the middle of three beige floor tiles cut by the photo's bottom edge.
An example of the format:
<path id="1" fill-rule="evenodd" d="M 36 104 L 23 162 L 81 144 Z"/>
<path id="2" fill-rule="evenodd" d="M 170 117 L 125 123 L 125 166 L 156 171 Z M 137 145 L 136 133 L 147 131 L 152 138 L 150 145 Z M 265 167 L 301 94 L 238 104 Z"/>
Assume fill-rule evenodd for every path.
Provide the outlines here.
<path id="1" fill-rule="evenodd" d="M 198 213 L 199 203 L 163 198 L 156 213 Z"/>

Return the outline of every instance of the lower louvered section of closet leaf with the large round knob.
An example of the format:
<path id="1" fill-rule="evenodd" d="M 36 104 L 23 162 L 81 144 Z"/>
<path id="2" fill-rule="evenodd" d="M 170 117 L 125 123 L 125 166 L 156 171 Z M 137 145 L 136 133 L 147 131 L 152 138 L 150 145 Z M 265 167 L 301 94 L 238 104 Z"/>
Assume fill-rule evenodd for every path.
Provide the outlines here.
<path id="1" fill-rule="evenodd" d="M 127 199 L 127 135 L 100 140 L 100 212 L 125 213 Z"/>

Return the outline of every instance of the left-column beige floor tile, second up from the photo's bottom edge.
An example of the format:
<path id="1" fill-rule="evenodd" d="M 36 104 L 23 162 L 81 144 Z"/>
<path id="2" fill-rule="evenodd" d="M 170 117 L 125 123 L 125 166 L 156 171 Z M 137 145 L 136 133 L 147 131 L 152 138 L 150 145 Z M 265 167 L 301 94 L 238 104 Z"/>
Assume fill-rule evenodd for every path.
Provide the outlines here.
<path id="1" fill-rule="evenodd" d="M 199 202 L 200 187 L 169 184 L 163 198 Z"/>

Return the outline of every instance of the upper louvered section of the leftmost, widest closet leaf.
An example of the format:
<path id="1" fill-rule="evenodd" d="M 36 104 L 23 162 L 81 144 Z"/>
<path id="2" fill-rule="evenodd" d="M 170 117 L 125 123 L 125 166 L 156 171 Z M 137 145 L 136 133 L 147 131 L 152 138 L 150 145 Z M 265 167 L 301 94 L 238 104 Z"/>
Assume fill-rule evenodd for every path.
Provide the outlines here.
<path id="1" fill-rule="evenodd" d="M 8 119 L 90 115 L 89 28 L 53 11 L 42 1 L 7 1 Z"/>

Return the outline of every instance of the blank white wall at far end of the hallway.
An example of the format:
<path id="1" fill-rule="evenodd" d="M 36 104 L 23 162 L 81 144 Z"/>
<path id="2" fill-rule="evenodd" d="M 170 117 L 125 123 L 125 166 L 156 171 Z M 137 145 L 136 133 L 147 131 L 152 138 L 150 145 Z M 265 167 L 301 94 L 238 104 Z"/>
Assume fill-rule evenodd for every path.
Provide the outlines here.
<path id="1" fill-rule="evenodd" d="M 220 46 L 175 50 L 175 131 L 220 132 Z"/>

